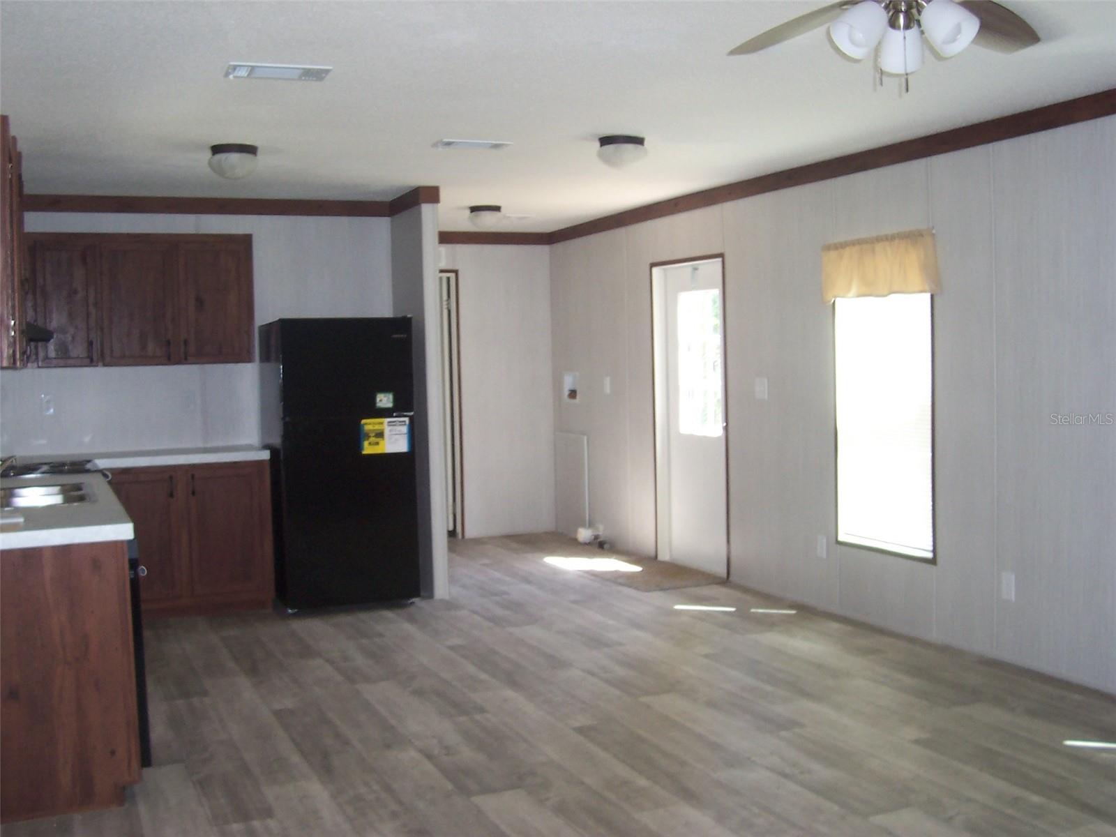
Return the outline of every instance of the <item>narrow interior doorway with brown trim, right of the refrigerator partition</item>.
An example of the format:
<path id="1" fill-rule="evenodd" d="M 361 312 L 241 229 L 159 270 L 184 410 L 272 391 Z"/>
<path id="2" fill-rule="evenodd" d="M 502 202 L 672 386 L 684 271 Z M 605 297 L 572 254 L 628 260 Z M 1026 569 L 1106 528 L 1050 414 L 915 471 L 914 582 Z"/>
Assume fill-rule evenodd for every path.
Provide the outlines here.
<path id="1" fill-rule="evenodd" d="M 446 528 L 451 538 L 465 537 L 464 477 L 461 455 L 461 326 L 458 271 L 437 275 L 442 328 L 442 436 L 445 446 Z"/>

